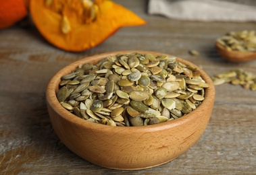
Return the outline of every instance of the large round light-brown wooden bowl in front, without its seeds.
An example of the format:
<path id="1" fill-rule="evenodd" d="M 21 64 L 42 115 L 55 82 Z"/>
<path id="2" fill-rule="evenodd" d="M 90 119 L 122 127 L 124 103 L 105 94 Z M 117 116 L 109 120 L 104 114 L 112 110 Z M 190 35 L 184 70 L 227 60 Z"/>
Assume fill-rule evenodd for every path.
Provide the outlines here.
<path id="1" fill-rule="evenodd" d="M 205 100 L 197 109 L 176 120 L 143 127 L 112 127 L 83 120 L 59 104 L 56 92 L 61 76 L 72 72 L 80 64 L 97 63 L 109 55 L 127 52 L 149 53 L 138 50 L 108 52 L 76 61 L 53 76 L 47 86 L 46 98 L 53 128 L 70 150 L 84 160 L 105 168 L 138 170 L 170 162 L 196 143 L 209 122 L 215 88 L 204 71 L 179 59 L 186 65 L 197 67 L 210 87 L 206 89 Z"/>

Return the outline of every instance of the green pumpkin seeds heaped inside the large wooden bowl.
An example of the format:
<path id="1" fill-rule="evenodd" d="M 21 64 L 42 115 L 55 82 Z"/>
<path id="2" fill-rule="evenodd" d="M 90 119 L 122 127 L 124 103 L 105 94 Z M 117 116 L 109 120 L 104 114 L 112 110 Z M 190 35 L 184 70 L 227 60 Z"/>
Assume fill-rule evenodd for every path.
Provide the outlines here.
<path id="1" fill-rule="evenodd" d="M 63 108 L 111 126 L 153 125 L 195 110 L 209 85 L 200 72 L 169 55 L 136 52 L 85 63 L 61 77 Z"/>

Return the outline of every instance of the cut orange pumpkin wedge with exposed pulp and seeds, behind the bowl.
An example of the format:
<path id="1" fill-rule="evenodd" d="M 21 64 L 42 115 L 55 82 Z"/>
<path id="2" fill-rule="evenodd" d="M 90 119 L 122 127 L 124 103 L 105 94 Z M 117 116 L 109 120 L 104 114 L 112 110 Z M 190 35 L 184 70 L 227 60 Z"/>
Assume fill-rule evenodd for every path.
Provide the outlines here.
<path id="1" fill-rule="evenodd" d="M 97 46 L 121 27 L 146 23 L 107 0 L 31 0 L 30 13 L 48 42 L 73 52 Z"/>

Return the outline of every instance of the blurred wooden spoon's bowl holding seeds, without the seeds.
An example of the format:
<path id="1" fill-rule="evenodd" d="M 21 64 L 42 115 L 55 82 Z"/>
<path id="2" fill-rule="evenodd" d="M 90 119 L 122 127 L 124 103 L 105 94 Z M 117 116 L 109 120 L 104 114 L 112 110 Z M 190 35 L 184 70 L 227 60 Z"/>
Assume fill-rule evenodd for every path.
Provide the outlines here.
<path id="1" fill-rule="evenodd" d="M 216 42 L 217 52 L 226 60 L 234 63 L 242 63 L 256 59 L 256 52 L 230 51 L 222 44 Z"/>

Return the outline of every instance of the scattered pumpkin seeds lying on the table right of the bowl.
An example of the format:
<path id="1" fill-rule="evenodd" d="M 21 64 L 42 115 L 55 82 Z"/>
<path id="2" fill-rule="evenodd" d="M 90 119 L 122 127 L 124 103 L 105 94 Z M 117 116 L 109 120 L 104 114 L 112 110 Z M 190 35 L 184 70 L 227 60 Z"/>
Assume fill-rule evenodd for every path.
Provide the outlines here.
<path id="1" fill-rule="evenodd" d="M 246 90 L 256 90 L 256 75 L 242 69 L 230 70 L 226 73 L 220 73 L 212 77 L 214 85 L 231 83 L 232 85 L 241 85 Z"/>

